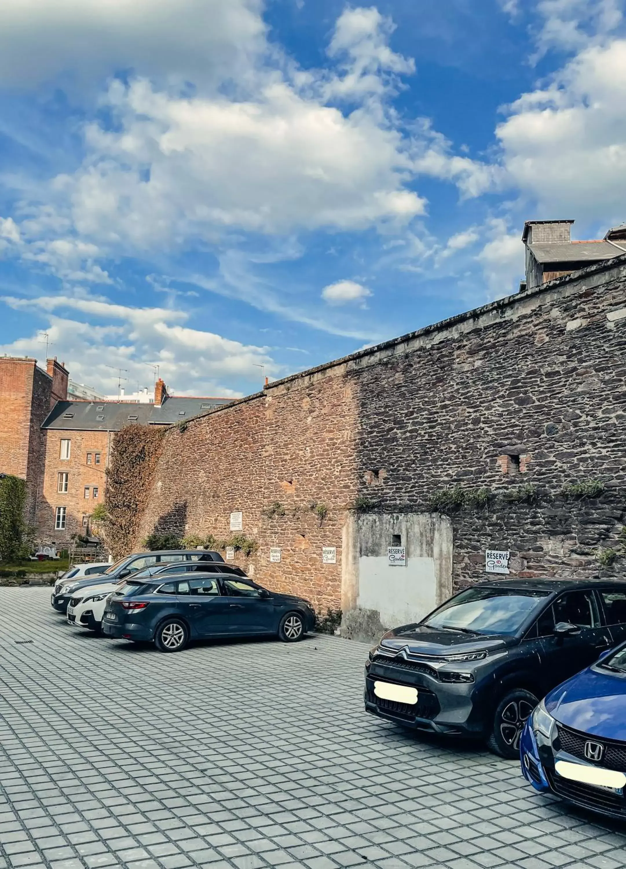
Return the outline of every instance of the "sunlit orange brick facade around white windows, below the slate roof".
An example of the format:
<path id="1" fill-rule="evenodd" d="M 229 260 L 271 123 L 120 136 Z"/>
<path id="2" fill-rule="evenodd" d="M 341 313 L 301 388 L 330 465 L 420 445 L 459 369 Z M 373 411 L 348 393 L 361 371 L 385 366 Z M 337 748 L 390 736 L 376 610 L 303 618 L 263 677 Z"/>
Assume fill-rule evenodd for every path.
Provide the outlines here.
<path id="1" fill-rule="evenodd" d="M 93 431 L 62 431 L 48 429 L 45 440 L 45 474 L 43 488 L 37 505 L 37 536 L 43 542 L 54 541 L 57 546 L 67 546 L 72 534 L 85 534 L 82 525 L 83 515 L 91 514 L 96 504 L 104 500 L 106 468 L 109 458 L 110 441 L 113 434 Z M 71 441 L 69 460 L 61 459 L 61 441 Z M 91 464 L 87 464 L 87 454 L 91 454 Z M 96 453 L 100 454 L 100 464 L 96 465 Z M 58 474 L 67 473 L 68 491 L 58 492 Z M 89 487 L 89 498 L 84 497 L 84 489 Z M 93 489 L 98 488 L 98 498 L 94 500 Z M 55 528 L 56 507 L 66 507 L 64 531 Z"/>

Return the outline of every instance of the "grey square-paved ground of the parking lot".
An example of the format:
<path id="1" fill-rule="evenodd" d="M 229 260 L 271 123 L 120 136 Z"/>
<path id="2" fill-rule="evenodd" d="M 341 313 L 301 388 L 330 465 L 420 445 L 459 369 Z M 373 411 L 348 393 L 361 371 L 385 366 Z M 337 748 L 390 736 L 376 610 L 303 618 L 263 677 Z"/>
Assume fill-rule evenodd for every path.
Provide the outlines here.
<path id="1" fill-rule="evenodd" d="M 362 708 L 333 637 L 164 655 L 0 589 L 0 869 L 618 869 L 626 835 L 517 765 Z"/>

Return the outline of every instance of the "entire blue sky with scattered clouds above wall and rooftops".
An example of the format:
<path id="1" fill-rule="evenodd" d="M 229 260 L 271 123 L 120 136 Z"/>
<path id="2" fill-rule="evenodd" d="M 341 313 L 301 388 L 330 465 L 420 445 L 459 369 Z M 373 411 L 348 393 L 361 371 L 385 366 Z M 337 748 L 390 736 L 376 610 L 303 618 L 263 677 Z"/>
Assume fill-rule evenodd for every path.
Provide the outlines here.
<path id="1" fill-rule="evenodd" d="M 245 395 L 508 295 L 626 220 L 624 2 L 4 0 L 0 352 Z"/>

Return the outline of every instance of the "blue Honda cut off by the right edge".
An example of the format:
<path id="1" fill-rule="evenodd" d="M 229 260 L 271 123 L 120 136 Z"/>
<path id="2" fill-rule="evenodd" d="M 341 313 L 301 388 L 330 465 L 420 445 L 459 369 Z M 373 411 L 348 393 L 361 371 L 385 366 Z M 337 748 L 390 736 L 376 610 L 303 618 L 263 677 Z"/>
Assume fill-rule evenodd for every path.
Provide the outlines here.
<path id="1" fill-rule="evenodd" d="M 551 691 L 519 747 L 537 791 L 626 819 L 626 643 Z"/>

